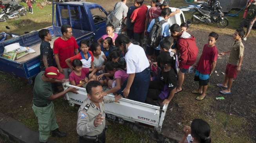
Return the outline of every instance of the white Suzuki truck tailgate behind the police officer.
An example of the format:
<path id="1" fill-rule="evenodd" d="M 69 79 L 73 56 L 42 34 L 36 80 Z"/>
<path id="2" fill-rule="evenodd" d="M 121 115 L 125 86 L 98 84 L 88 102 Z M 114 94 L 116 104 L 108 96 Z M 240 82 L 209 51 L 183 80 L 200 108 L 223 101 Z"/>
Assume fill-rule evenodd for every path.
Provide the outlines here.
<path id="1" fill-rule="evenodd" d="M 85 88 L 72 86 L 70 84 L 64 84 L 64 89 L 68 87 L 74 87 L 78 89 L 78 94 L 68 92 L 66 94 L 67 100 L 70 104 L 81 105 L 87 98 L 87 92 Z M 114 97 L 113 95 L 106 95 Z M 162 123 L 165 116 L 165 111 L 168 105 L 164 105 L 163 109 L 159 106 L 145 104 L 126 98 L 121 98 L 120 103 L 105 104 L 105 112 L 107 114 L 113 114 L 114 116 L 123 118 L 123 120 L 129 122 L 140 122 L 147 125 L 152 125 L 157 131 L 161 130 Z"/>

